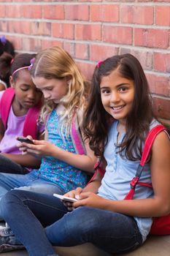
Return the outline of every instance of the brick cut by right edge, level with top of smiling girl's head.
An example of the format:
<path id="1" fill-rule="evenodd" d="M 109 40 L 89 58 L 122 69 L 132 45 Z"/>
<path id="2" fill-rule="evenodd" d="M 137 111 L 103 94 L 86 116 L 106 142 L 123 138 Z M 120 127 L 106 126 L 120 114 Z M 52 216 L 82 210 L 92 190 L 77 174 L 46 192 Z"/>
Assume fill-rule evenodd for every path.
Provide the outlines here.
<path id="1" fill-rule="evenodd" d="M 154 69 L 170 72 L 170 53 L 154 53 Z"/>

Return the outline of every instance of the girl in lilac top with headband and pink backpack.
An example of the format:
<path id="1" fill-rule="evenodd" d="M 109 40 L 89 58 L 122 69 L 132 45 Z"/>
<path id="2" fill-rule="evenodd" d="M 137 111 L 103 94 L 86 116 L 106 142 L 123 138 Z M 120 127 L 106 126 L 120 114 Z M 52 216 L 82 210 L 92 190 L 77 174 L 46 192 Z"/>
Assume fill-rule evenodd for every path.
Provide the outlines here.
<path id="1" fill-rule="evenodd" d="M 38 168 L 40 160 L 34 156 L 24 156 L 19 150 L 16 136 L 23 136 L 25 128 L 31 132 L 35 123 L 35 138 L 41 138 L 45 129 L 36 116 L 29 113 L 38 110 L 42 92 L 36 89 L 28 70 L 35 54 L 21 53 L 12 61 L 9 77 L 11 88 L 0 91 L 0 172 L 29 173 L 32 167 Z M 1 58 L 1 57 L 0 57 Z M 40 108 L 39 108 L 40 110 Z M 38 113 L 37 113 L 38 114 Z M 31 121 L 26 121 L 31 118 Z M 42 138 L 44 138 L 42 136 Z"/>

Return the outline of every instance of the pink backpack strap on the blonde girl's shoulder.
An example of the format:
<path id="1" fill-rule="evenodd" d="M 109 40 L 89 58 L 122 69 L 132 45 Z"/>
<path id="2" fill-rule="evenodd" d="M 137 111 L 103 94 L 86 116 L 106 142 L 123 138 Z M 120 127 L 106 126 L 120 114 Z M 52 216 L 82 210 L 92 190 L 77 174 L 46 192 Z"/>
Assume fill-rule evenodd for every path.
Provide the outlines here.
<path id="1" fill-rule="evenodd" d="M 85 145 L 82 141 L 80 127 L 78 125 L 77 116 L 74 115 L 72 120 L 71 138 L 77 154 L 86 154 Z"/>

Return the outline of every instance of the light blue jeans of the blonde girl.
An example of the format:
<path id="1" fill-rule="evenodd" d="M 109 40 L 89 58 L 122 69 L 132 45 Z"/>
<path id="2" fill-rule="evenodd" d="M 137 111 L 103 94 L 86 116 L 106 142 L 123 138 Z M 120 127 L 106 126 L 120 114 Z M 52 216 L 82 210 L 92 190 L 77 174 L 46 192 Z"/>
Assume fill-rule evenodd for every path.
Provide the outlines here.
<path id="1" fill-rule="evenodd" d="M 47 181 L 39 174 L 38 171 L 33 170 L 25 175 L 14 173 L 0 173 L 0 200 L 9 190 L 22 189 L 27 191 L 39 192 L 47 195 L 53 193 L 63 195 L 65 192 L 61 187 L 52 181 Z M 1 201 L 0 201 L 1 206 Z M 0 207 L 0 219 L 1 207 Z"/>

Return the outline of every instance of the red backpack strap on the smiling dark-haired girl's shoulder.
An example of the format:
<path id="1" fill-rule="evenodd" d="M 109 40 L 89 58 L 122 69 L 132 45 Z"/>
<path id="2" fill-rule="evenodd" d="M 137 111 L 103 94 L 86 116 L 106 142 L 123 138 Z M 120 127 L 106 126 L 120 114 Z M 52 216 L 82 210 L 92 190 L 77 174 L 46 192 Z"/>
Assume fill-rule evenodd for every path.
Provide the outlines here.
<path id="1" fill-rule="evenodd" d="M 134 192 L 137 184 L 140 184 L 142 186 L 146 187 L 152 187 L 152 184 L 147 184 L 144 182 L 139 182 L 139 178 L 142 175 L 142 170 L 144 169 L 144 164 L 147 161 L 147 157 L 150 154 L 150 149 L 152 148 L 152 143 L 155 140 L 156 136 L 165 130 L 166 128 L 163 127 L 162 124 L 158 124 L 156 127 L 153 127 L 150 132 L 147 135 L 146 140 L 144 141 L 144 148 L 142 152 L 142 159 L 140 161 L 139 167 L 136 170 L 136 176 L 131 180 L 131 189 L 128 192 L 128 194 L 125 196 L 125 200 L 130 200 L 133 199 L 134 197 Z"/>

